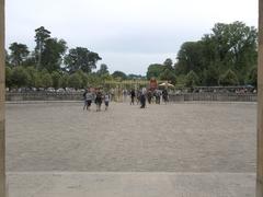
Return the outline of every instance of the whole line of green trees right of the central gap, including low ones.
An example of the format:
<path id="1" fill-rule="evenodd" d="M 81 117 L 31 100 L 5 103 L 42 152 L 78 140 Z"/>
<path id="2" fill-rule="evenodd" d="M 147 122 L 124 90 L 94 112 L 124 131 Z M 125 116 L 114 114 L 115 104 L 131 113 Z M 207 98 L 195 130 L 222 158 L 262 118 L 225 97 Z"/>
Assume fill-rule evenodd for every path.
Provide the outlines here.
<path id="1" fill-rule="evenodd" d="M 169 80 L 176 86 L 256 86 L 258 31 L 242 22 L 217 23 L 210 34 L 182 44 L 175 62 L 148 67 L 147 78 Z"/>

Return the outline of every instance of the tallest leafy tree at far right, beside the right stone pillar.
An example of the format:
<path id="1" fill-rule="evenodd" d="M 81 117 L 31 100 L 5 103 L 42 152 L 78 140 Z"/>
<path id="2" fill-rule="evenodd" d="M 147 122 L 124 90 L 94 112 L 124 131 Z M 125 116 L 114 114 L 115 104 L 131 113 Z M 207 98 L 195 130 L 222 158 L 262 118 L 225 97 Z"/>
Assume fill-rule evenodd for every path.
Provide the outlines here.
<path id="1" fill-rule="evenodd" d="M 220 72 L 236 70 L 239 81 L 243 83 L 250 68 L 256 65 L 256 30 L 238 21 L 217 23 L 210 38 L 216 44 L 216 57 L 221 62 Z"/>

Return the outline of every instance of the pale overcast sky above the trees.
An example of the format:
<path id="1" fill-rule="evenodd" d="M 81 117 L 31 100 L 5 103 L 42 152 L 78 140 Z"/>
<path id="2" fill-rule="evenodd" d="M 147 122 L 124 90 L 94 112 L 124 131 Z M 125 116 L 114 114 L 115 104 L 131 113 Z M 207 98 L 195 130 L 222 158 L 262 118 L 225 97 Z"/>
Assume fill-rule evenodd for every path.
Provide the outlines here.
<path id="1" fill-rule="evenodd" d="M 98 53 L 110 71 L 145 74 L 150 63 L 175 61 L 184 42 L 217 22 L 258 25 L 258 0 L 7 0 L 7 48 L 34 48 L 45 26 L 68 46 Z"/>

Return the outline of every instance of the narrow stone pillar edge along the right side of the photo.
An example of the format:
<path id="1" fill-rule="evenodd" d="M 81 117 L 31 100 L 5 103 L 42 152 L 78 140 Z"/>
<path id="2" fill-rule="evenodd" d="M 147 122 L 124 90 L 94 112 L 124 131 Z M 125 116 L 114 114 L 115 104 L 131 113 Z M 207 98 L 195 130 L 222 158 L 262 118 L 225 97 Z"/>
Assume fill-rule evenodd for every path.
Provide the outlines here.
<path id="1" fill-rule="evenodd" d="M 259 0 L 256 197 L 263 197 L 263 0 Z"/>

